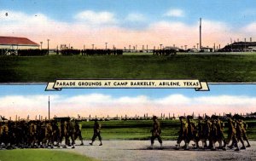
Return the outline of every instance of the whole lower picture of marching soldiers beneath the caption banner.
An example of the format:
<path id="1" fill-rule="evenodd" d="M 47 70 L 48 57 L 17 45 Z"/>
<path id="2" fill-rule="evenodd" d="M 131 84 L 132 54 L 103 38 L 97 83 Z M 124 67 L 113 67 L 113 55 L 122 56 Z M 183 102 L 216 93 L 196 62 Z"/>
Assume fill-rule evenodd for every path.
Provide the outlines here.
<path id="1" fill-rule="evenodd" d="M 0 161 L 256 160 L 256 84 L 0 85 Z"/>

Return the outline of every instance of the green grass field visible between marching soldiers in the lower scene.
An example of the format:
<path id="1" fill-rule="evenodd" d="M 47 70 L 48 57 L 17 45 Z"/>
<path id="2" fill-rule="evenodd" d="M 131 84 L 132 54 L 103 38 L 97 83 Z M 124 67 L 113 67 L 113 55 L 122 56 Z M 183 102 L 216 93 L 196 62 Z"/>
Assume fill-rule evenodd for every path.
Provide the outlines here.
<path id="1" fill-rule="evenodd" d="M 82 135 L 85 140 L 90 140 L 93 135 L 94 122 L 82 122 Z M 152 120 L 127 120 L 105 121 L 102 124 L 103 140 L 149 140 L 152 129 Z M 164 140 L 177 140 L 179 130 L 178 120 L 160 120 L 162 138 Z M 247 122 L 247 136 L 256 140 L 256 121 Z M 224 130 L 227 137 L 227 128 Z"/>

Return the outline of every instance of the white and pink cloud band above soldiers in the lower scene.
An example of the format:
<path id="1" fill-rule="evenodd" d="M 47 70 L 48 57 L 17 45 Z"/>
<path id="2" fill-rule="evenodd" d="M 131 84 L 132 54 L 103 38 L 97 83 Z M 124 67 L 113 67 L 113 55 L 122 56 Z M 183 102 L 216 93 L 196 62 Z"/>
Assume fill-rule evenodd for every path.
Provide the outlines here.
<path id="1" fill-rule="evenodd" d="M 50 95 L 51 116 L 82 117 L 98 116 L 149 116 L 160 113 L 182 115 L 207 113 L 254 112 L 256 97 L 246 95 L 215 95 L 187 97 L 185 95 L 166 95 L 163 98 L 150 98 L 146 95 L 113 97 L 99 93 L 90 95 Z M 6 118 L 26 118 L 30 115 L 48 116 L 48 95 L 6 95 L 0 98 L 0 115 Z"/>

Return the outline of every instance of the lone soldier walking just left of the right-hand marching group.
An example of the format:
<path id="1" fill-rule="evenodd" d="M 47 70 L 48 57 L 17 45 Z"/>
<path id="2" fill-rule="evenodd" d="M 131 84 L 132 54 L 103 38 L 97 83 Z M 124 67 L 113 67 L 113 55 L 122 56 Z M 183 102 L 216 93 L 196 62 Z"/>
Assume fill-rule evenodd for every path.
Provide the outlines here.
<path id="1" fill-rule="evenodd" d="M 153 129 L 151 129 L 151 133 L 152 133 L 152 136 L 151 136 L 151 146 L 150 148 L 153 148 L 153 145 L 154 145 L 154 139 L 157 138 L 158 141 L 160 142 L 160 148 L 162 148 L 162 143 L 163 141 L 161 140 L 161 137 L 160 137 L 160 134 L 161 134 L 161 129 L 160 129 L 160 123 L 159 121 L 157 120 L 157 117 L 154 116 L 153 118 Z"/>

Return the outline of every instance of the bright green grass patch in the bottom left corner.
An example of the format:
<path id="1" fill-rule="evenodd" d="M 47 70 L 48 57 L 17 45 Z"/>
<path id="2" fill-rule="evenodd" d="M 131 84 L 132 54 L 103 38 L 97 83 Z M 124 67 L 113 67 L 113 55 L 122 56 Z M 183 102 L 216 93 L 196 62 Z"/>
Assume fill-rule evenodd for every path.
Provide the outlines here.
<path id="1" fill-rule="evenodd" d="M 60 152 L 44 149 L 17 149 L 15 151 L 3 150 L 0 151 L 1 161 L 92 161 L 96 160 L 88 158 L 72 152 Z"/>

